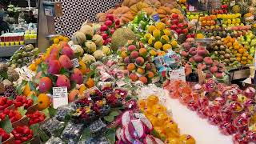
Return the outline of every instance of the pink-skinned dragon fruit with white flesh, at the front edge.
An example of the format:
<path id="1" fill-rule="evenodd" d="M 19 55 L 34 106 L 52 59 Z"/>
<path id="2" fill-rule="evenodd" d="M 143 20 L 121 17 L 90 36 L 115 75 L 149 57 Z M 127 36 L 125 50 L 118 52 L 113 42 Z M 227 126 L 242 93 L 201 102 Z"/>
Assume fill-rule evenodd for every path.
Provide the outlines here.
<path id="1" fill-rule="evenodd" d="M 164 143 L 162 140 L 150 135 L 154 128 L 143 114 L 126 111 L 122 114 L 121 122 L 121 127 L 116 130 L 116 137 L 118 138 L 116 143 L 118 144 Z"/>

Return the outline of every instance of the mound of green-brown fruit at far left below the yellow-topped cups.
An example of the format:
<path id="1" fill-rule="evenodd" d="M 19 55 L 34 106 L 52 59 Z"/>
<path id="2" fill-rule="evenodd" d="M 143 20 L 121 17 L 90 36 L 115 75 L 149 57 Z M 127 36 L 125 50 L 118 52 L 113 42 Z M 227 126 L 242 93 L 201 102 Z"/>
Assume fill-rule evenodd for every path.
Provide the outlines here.
<path id="1" fill-rule="evenodd" d="M 32 63 L 34 58 L 38 57 L 40 53 L 38 48 L 34 48 L 33 45 L 26 45 L 19 50 L 17 50 L 14 55 L 10 58 L 8 65 L 16 68 L 26 66 Z"/>

